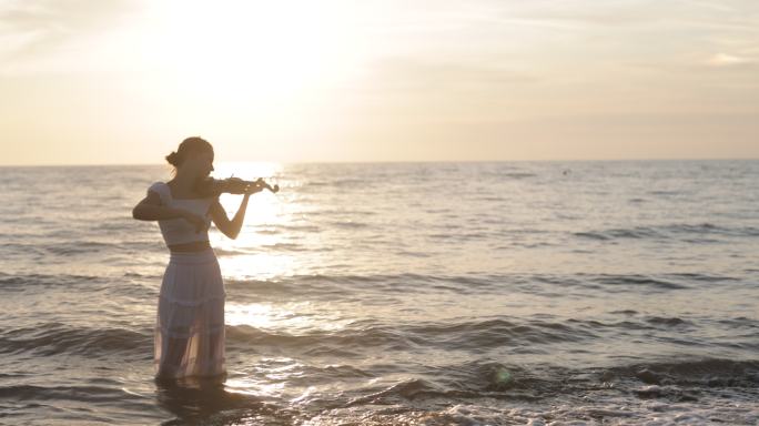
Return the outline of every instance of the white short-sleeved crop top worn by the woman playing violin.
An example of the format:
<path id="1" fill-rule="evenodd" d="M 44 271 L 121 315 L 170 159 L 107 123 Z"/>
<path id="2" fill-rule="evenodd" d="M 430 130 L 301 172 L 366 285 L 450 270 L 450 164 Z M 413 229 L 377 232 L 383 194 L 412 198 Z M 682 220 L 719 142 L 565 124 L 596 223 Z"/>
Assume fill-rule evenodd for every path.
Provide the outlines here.
<path id="1" fill-rule="evenodd" d="M 166 243 L 166 245 L 191 243 L 194 241 L 209 241 L 208 227 L 211 225 L 211 215 L 209 214 L 209 209 L 214 200 L 216 200 L 215 196 L 205 199 L 175 200 L 173 196 L 171 196 L 171 190 L 165 182 L 154 182 L 152 185 L 150 185 L 148 191 L 158 193 L 161 196 L 161 203 L 163 205 L 188 210 L 201 217 L 205 217 L 206 230 L 201 232 L 195 232 L 194 226 L 182 217 L 158 221 L 159 227 L 161 229 L 161 234 L 163 235 L 163 241 Z"/>

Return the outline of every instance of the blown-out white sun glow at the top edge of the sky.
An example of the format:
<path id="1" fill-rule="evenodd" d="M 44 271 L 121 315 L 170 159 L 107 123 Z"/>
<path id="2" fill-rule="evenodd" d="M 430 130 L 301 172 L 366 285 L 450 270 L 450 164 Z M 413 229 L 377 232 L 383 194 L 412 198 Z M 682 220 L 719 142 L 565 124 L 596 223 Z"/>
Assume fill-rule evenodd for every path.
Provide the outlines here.
<path id="1" fill-rule="evenodd" d="M 307 100 L 355 70 L 361 50 L 340 2 L 152 2 L 143 58 L 186 95 L 264 108 Z M 188 93 L 188 91 L 190 93 Z M 265 105 L 271 108 L 271 104 Z"/>

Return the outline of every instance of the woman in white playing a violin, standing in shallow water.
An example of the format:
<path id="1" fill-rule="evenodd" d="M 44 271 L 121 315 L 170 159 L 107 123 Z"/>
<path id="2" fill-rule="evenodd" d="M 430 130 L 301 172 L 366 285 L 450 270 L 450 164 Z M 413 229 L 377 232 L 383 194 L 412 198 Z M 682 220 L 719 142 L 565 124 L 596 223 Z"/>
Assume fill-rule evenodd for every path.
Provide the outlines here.
<path id="1" fill-rule="evenodd" d="M 156 378 L 217 376 L 224 367 L 224 283 L 209 243 L 211 221 L 230 239 L 240 233 L 247 200 L 244 193 L 230 221 L 219 196 L 203 196 L 198 184 L 213 171 L 213 146 L 188 138 L 166 155 L 174 178 L 155 182 L 132 211 L 141 221 L 158 221 L 171 251 L 159 296 L 154 337 Z M 240 181 L 240 180 L 237 180 Z M 229 180 L 227 180 L 229 182 Z M 222 191 L 230 192 L 230 191 Z"/>

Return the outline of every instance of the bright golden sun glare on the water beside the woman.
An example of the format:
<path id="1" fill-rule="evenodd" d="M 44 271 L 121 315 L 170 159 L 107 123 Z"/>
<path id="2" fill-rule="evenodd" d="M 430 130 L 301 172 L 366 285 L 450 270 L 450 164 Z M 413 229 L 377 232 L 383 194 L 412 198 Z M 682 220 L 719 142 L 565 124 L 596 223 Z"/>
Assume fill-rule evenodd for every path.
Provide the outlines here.
<path id="1" fill-rule="evenodd" d="M 216 179 L 236 176 L 243 180 L 263 178 L 270 184 L 281 183 L 277 178 L 283 171 L 279 163 L 264 162 L 220 162 L 214 165 Z M 282 229 L 294 225 L 303 217 L 294 214 L 301 209 L 287 186 L 282 185 L 280 193 L 273 194 L 264 190 L 249 200 L 247 213 L 243 230 L 235 240 L 227 239 L 220 232 L 212 232 L 212 245 L 220 255 L 219 262 L 227 285 L 235 282 L 270 282 L 277 277 L 292 276 L 302 270 L 302 258 L 297 252 L 286 253 L 274 250 L 277 245 L 292 244 L 287 241 L 287 232 Z M 241 195 L 223 194 L 220 202 L 230 219 L 236 213 Z M 276 285 L 274 282 L 273 285 Z M 255 293 L 255 290 L 252 291 Z M 323 304 L 322 304 L 323 305 Z M 270 303 L 227 303 L 225 321 L 227 325 L 247 325 L 259 329 L 294 333 L 308 329 L 341 329 L 345 322 L 337 321 L 334 315 L 320 312 L 323 306 L 314 306 L 310 302 L 270 304 Z M 340 314 L 337 311 L 333 314 Z"/>

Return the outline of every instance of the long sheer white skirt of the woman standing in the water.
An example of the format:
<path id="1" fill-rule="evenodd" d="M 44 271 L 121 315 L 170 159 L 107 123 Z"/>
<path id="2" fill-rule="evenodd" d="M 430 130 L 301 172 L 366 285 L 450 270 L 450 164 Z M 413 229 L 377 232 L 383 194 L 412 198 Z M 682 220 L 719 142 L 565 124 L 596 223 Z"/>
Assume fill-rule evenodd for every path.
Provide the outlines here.
<path id="1" fill-rule="evenodd" d="M 163 274 L 153 363 L 161 378 L 216 376 L 224 367 L 224 282 L 212 248 L 172 253 Z"/>

